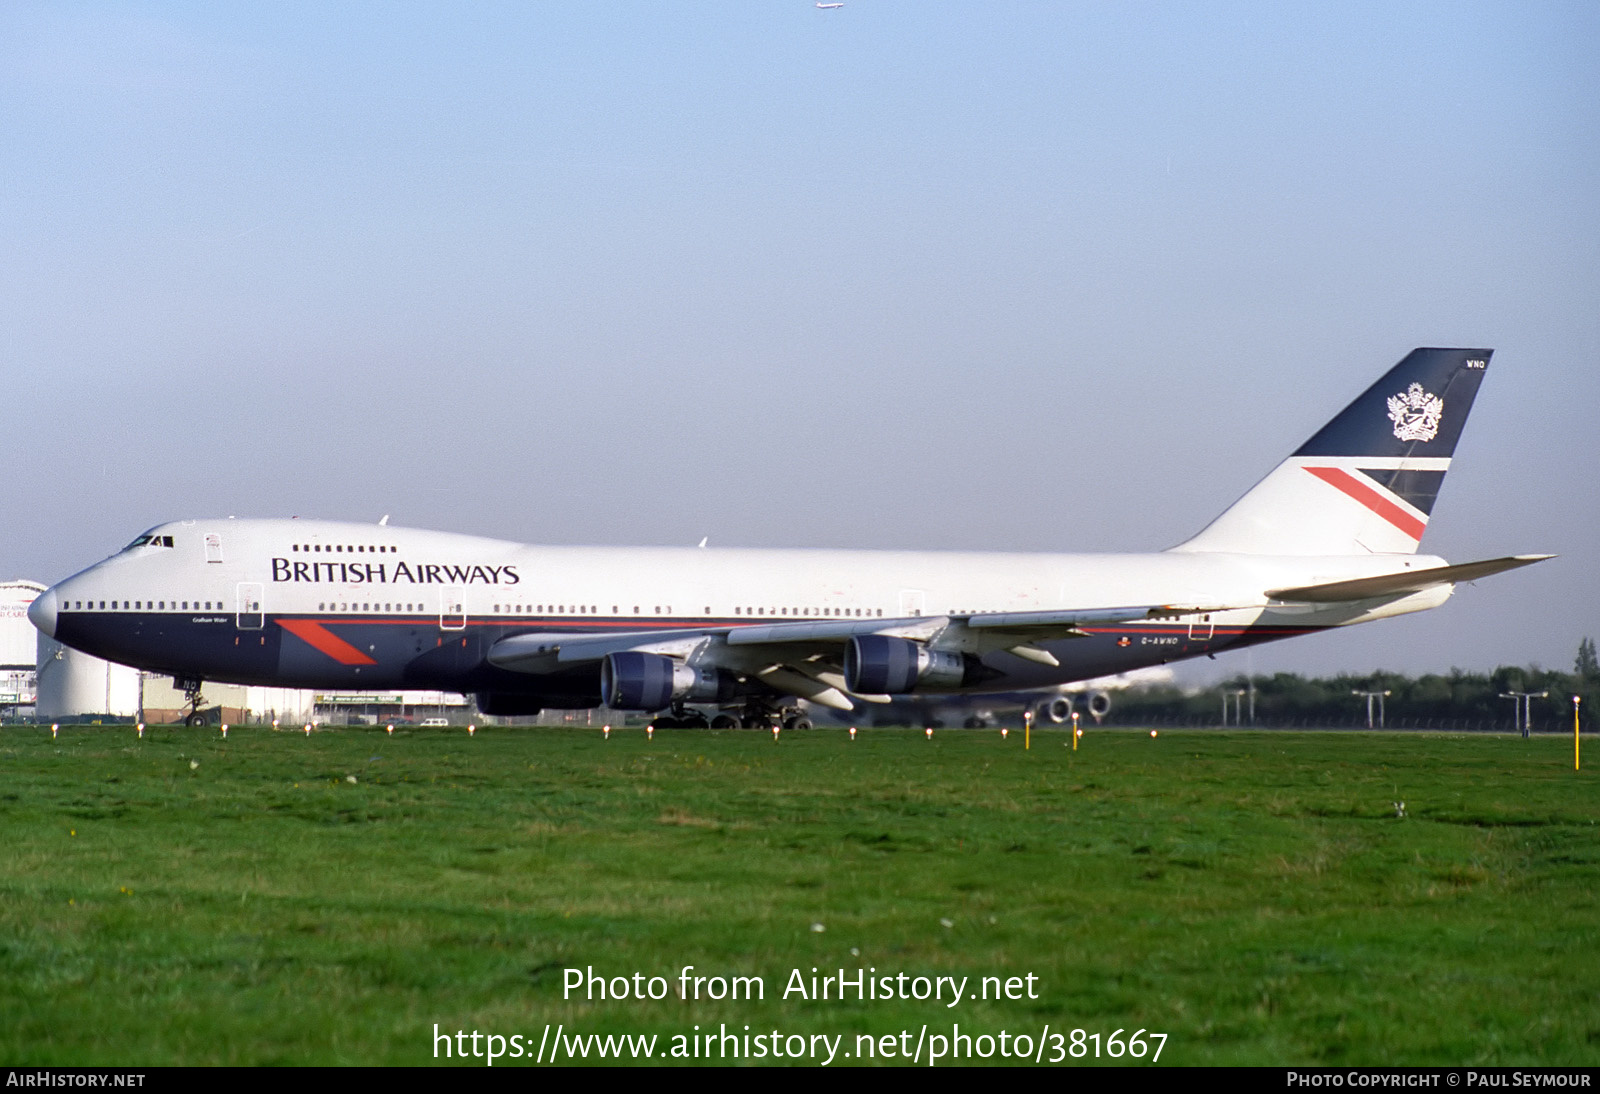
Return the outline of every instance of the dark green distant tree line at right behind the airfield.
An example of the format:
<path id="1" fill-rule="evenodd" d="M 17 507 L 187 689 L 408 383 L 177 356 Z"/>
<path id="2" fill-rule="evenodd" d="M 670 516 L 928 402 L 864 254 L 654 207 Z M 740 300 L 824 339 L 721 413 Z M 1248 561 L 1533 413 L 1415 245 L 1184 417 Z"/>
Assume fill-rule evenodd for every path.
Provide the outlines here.
<path id="1" fill-rule="evenodd" d="M 1237 694 L 1243 691 L 1245 694 Z M 1254 725 L 1266 728 L 1365 728 L 1368 699 L 1357 693 L 1387 693 L 1371 701 L 1373 725 L 1379 712 L 1390 729 L 1501 729 L 1517 728 L 1517 701 L 1510 693 L 1549 693 L 1526 704 L 1534 733 L 1571 733 L 1573 696 L 1582 699 L 1579 721 L 1584 733 L 1597 726 L 1600 713 L 1600 662 L 1595 643 L 1584 638 L 1571 672 L 1517 669 L 1502 665 L 1490 673 L 1462 672 L 1406 677 L 1368 673 L 1301 677 L 1278 672 L 1270 677 L 1235 677 L 1203 691 L 1163 685 L 1130 688 L 1112 699 L 1107 725 L 1221 726 Z M 1251 696 L 1251 693 L 1254 693 Z M 1254 704 L 1251 704 L 1251 697 Z"/>

